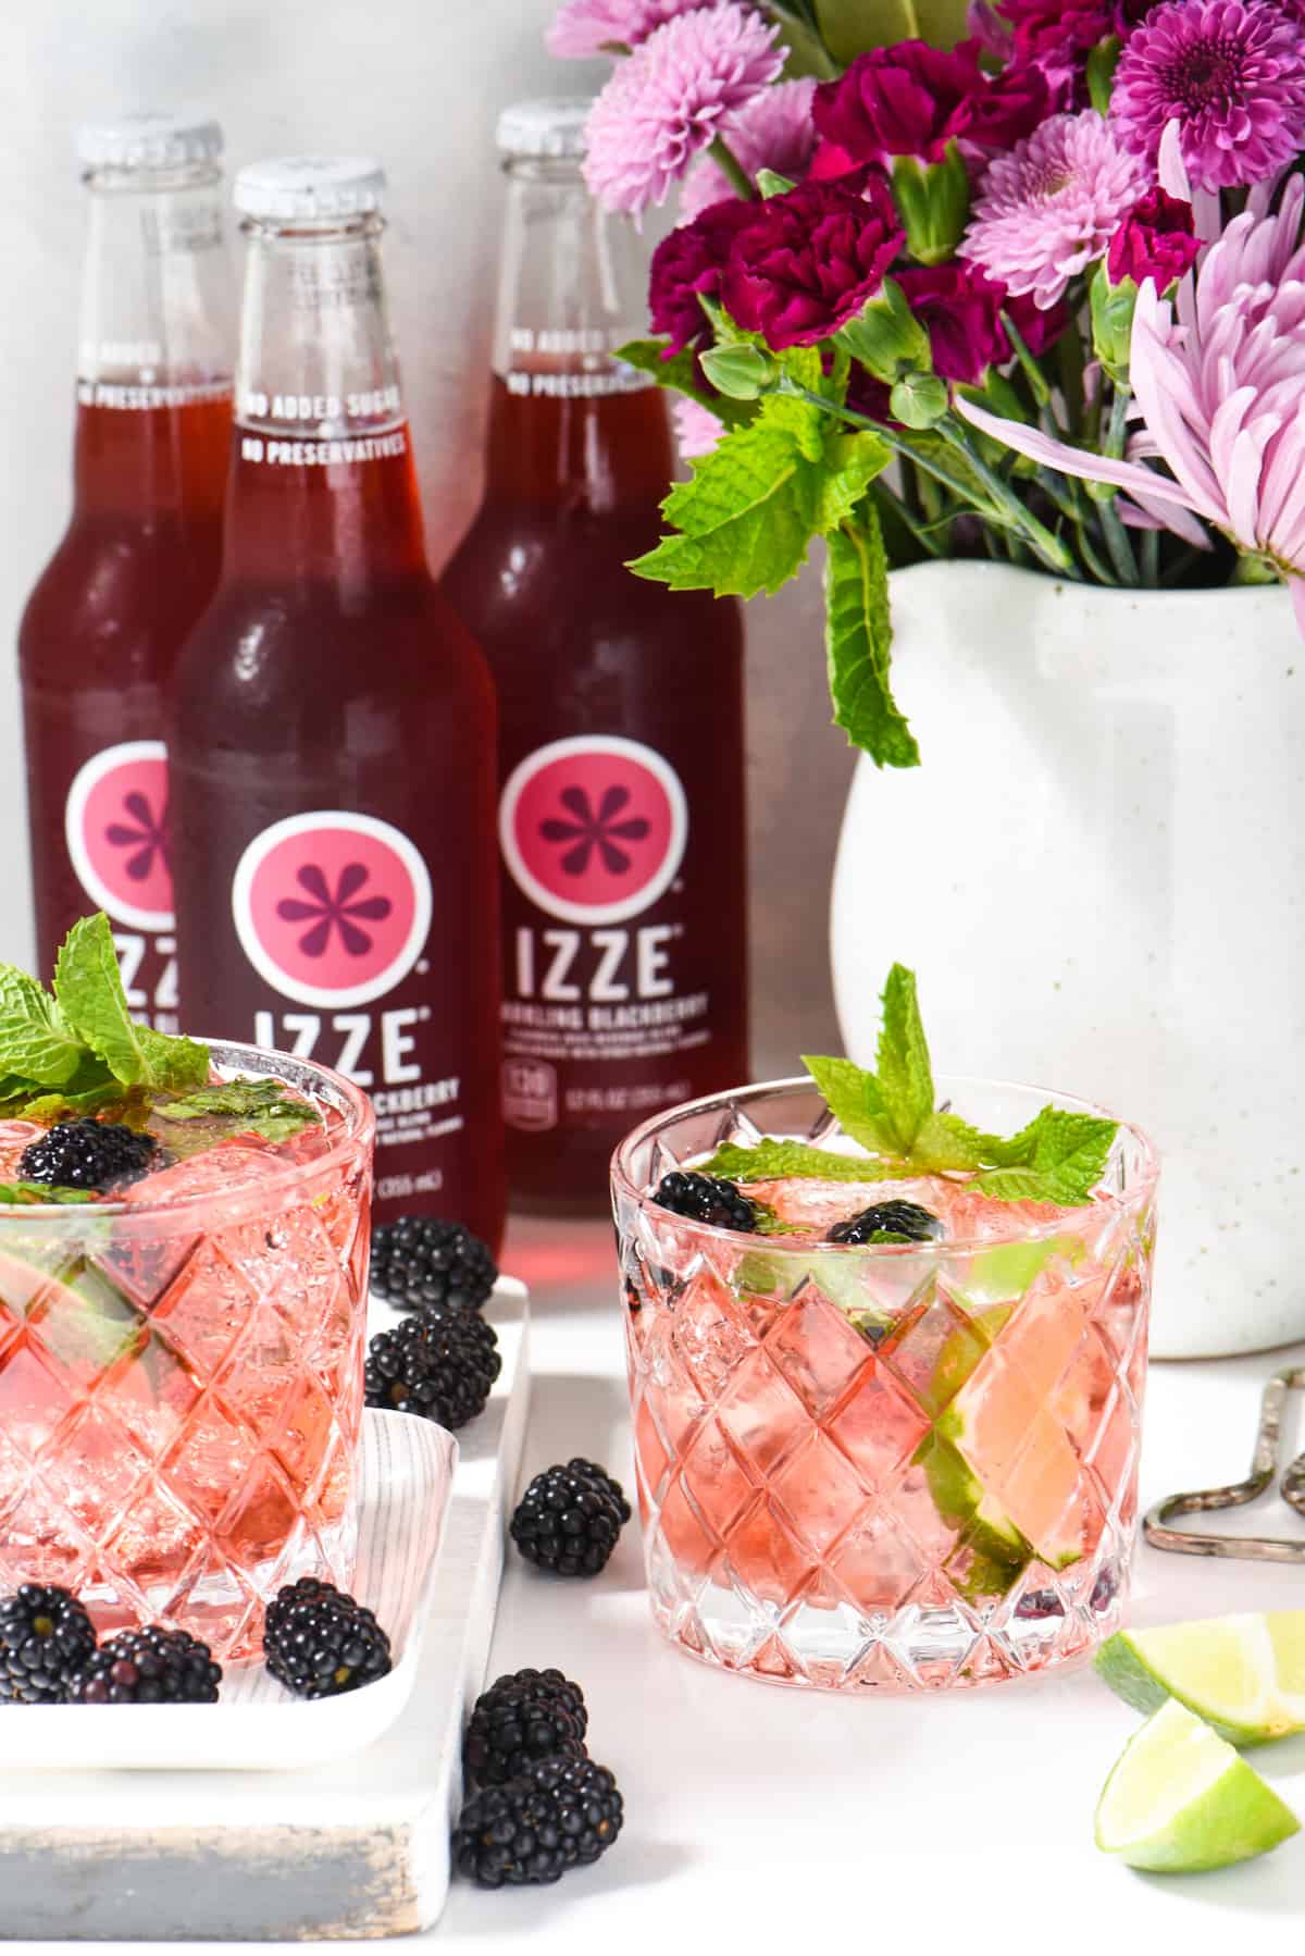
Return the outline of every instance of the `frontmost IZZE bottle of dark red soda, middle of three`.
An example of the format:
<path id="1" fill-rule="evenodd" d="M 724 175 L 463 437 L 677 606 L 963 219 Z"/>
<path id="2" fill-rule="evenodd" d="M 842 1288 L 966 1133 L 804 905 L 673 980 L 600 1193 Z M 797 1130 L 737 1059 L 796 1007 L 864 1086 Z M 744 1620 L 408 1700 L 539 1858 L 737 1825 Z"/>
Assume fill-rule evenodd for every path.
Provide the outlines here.
<path id="1" fill-rule="evenodd" d="M 427 567 L 382 190 L 319 156 L 235 184 L 223 573 L 170 737 L 182 1005 L 368 1088 L 382 1219 L 497 1244 L 493 685 Z"/>

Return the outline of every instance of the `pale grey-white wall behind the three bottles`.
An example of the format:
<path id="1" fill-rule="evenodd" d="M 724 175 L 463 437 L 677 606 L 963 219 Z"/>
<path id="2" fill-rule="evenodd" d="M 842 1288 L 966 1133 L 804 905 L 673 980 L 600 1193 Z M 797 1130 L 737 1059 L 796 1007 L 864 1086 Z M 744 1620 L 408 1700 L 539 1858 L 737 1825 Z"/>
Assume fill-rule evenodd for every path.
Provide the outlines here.
<path id="1" fill-rule="evenodd" d="M 260 155 L 383 160 L 387 274 L 432 563 L 479 493 L 499 248 L 493 123 L 530 94 L 575 94 L 603 65 L 554 63 L 554 0 L 10 0 L 0 145 L 10 221 L 0 372 L 0 958 L 29 962 L 25 814 L 14 640 L 68 511 L 82 190 L 80 119 L 196 106 L 227 131 L 235 170 Z M 826 1050 L 826 902 L 849 777 L 828 728 L 814 579 L 749 608 L 749 747 L 757 1072 Z"/>

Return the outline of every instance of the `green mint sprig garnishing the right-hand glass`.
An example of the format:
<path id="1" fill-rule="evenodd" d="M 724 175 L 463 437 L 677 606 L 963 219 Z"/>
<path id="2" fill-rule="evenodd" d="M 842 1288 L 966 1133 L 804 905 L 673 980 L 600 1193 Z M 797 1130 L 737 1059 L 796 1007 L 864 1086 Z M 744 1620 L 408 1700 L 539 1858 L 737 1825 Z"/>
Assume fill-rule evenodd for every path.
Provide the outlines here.
<path id="1" fill-rule="evenodd" d="M 1047 1105 L 1010 1138 L 984 1134 L 961 1115 L 935 1107 L 914 972 L 892 966 L 882 1005 L 875 1072 L 845 1058 L 804 1056 L 830 1113 L 871 1160 L 800 1140 L 761 1140 L 755 1148 L 718 1148 L 704 1164 L 706 1174 L 730 1181 L 968 1174 L 974 1178 L 970 1187 L 1002 1203 L 1076 1209 L 1092 1197 L 1115 1142 L 1115 1121 Z"/>

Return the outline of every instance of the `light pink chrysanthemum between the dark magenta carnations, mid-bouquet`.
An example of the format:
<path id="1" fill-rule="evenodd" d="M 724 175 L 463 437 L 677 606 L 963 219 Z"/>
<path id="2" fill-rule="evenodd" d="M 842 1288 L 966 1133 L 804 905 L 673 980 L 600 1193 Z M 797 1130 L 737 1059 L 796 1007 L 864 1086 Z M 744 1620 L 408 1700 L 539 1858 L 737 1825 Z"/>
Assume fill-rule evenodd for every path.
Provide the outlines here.
<path id="1" fill-rule="evenodd" d="M 1096 110 L 1053 115 L 998 156 L 959 254 L 1047 311 L 1100 258 L 1147 188 L 1147 170 Z"/>

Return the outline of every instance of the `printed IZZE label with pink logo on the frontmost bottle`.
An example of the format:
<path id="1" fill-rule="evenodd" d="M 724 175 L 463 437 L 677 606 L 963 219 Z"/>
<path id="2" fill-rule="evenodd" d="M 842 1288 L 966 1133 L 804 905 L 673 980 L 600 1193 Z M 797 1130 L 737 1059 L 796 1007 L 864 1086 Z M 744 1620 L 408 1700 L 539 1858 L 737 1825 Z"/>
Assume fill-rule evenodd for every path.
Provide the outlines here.
<path id="1" fill-rule="evenodd" d="M 462 1078 L 432 1050 L 428 984 L 405 984 L 428 972 L 432 892 L 421 851 L 401 829 L 348 810 L 274 822 L 237 863 L 231 913 L 258 976 L 284 1000 L 313 1007 L 258 1011 L 258 1045 L 335 1066 L 368 1088 L 382 1148 L 462 1131 Z M 434 1193 L 440 1183 L 438 1166 L 399 1166 L 382 1172 L 378 1193 Z"/>

